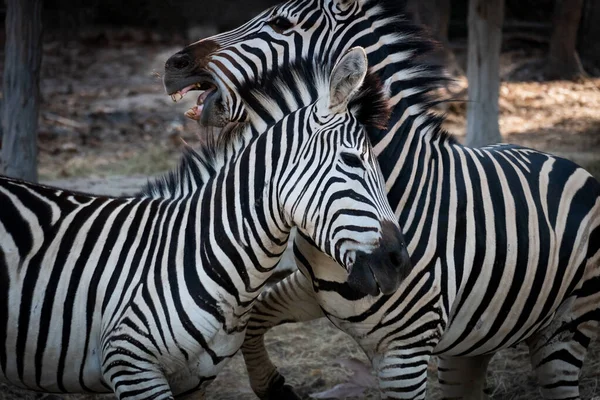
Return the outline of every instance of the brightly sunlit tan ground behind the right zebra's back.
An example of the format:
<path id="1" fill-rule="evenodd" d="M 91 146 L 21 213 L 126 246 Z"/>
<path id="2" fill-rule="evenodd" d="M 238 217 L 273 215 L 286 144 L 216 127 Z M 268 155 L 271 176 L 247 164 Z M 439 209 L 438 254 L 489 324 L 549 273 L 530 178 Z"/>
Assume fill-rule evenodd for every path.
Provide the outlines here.
<path id="1" fill-rule="evenodd" d="M 466 82 L 458 82 L 466 88 Z M 459 90 L 457 89 L 457 90 Z M 466 92 L 463 92 L 463 94 Z M 446 128 L 466 132 L 466 102 L 448 105 Z M 581 82 L 502 82 L 503 140 L 569 158 L 600 178 L 600 79 Z"/>

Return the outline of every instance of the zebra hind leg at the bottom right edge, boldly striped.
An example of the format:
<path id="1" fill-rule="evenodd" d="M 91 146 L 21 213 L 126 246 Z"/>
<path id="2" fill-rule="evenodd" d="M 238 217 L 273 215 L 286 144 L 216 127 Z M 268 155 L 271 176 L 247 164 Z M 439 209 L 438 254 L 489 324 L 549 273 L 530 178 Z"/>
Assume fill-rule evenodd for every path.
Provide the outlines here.
<path id="1" fill-rule="evenodd" d="M 580 316 L 571 314 L 566 320 L 553 321 L 527 341 L 531 364 L 545 399 L 580 399 L 579 373 L 588 346 L 598 335 L 600 320 L 597 308 L 600 296 L 592 297 L 594 302 L 590 297 L 577 299 L 574 310 L 583 310 L 578 313 Z"/>

